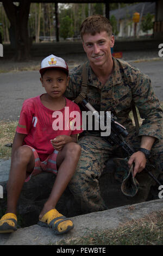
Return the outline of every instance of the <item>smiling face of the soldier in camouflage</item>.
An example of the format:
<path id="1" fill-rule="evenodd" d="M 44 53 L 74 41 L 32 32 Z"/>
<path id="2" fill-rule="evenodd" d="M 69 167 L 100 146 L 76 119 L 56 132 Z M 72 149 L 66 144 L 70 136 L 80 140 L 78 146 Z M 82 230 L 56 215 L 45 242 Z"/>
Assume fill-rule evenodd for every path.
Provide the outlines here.
<path id="1" fill-rule="evenodd" d="M 95 35 L 83 35 L 83 48 L 91 65 L 102 66 L 111 59 L 111 47 L 114 46 L 114 36 L 105 31 Z"/>

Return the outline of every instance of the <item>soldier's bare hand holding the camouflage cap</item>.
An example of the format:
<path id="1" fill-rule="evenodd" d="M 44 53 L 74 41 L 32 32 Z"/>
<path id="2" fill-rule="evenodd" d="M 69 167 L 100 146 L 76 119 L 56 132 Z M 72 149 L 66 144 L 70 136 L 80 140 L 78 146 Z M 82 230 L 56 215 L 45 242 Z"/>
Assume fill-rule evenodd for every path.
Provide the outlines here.
<path id="1" fill-rule="evenodd" d="M 146 157 L 141 151 L 135 152 L 133 155 L 130 156 L 128 161 L 129 168 L 131 164 L 135 163 L 133 176 L 135 177 L 136 173 L 140 173 L 146 167 Z"/>

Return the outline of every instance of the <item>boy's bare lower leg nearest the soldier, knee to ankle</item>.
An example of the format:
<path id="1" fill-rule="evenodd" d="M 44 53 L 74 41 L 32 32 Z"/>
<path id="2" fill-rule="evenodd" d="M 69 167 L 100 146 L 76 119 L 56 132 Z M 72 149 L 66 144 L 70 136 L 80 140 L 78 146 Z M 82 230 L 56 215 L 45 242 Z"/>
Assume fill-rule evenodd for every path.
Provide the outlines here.
<path id="1" fill-rule="evenodd" d="M 73 142 L 67 143 L 64 148 L 59 151 L 57 156 L 57 166 L 59 167 L 57 178 L 55 179 L 52 192 L 40 213 L 40 219 L 46 212 L 55 209 L 58 200 L 65 191 L 76 170 L 80 153 L 80 145 Z"/>

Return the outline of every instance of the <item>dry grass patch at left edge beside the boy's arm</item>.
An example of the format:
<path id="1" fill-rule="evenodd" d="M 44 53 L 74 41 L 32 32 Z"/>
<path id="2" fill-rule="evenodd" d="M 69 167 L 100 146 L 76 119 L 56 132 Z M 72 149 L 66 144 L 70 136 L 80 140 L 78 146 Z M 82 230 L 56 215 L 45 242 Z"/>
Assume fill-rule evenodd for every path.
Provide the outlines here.
<path id="1" fill-rule="evenodd" d="M 16 126 L 17 121 L 0 121 L 0 159 L 11 156 L 11 147 L 5 147 L 5 144 L 12 143 Z"/>

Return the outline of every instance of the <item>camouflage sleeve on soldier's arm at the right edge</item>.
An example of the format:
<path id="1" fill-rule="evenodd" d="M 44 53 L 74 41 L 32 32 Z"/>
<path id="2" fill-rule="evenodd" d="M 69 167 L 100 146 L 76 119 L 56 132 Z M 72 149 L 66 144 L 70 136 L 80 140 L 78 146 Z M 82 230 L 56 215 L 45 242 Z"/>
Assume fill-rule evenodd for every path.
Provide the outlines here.
<path id="1" fill-rule="evenodd" d="M 141 72 L 135 77 L 136 86 L 133 87 L 133 99 L 143 119 L 139 136 L 162 138 L 163 112 L 159 100 L 151 86 L 151 80 Z"/>

